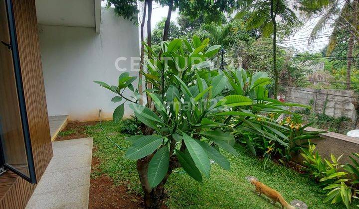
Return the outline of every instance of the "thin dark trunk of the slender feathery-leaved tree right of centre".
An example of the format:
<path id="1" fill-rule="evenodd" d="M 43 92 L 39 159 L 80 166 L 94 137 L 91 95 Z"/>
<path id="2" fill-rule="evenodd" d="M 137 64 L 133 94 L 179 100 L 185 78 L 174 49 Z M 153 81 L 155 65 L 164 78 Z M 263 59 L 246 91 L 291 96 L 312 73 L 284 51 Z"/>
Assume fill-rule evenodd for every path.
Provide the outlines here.
<path id="1" fill-rule="evenodd" d="M 278 7 L 278 2 L 279 0 L 277 0 L 277 6 L 276 6 L 276 10 Z M 277 22 L 275 20 L 275 17 L 277 15 L 277 12 L 274 13 L 274 8 L 273 8 L 273 0 L 271 0 L 270 2 L 270 12 L 271 12 L 271 20 L 273 23 L 273 72 L 274 72 L 274 99 L 277 99 L 277 95 L 278 95 L 278 70 L 277 70 Z"/>

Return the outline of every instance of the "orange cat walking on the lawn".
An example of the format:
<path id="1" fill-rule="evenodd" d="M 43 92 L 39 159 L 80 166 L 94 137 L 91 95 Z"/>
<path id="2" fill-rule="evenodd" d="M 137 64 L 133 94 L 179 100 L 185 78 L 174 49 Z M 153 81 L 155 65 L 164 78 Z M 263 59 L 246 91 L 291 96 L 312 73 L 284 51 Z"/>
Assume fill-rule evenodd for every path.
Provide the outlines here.
<path id="1" fill-rule="evenodd" d="M 279 194 L 279 192 L 273 190 L 272 188 L 264 185 L 261 182 L 258 182 L 256 180 L 251 180 L 251 184 L 255 186 L 256 192 L 258 195 L 261 195 L 262 193 L 267 196 L 268 198 L 272 199 L 273 202 L 271 202 L 273 205 L 279 202 L 282 205 L 282 209 L 295 209 L 295 207 L 289 205 L 284 198 Z"/>

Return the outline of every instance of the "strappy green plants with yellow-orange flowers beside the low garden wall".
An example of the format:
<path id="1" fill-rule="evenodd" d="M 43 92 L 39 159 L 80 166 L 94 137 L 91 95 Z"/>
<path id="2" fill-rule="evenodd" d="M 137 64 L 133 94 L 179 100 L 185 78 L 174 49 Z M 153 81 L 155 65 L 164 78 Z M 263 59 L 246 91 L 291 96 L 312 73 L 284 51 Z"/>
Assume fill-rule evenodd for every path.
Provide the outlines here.
<path id="1" fill-rule="evenodd" d="M 269 113 L 270 118 L 278 118 L 281 113 Z M 272 159 L 287 165 L 292 156 L 298 154 L 301 148 L 308 145 L 307 139 L 319 138 L 320 133 L 325 131 L 305 131 L 310 124 L 302 125 L 301 117 L 293 114 L 293 118 L 287 117 L 285 120 L 271 121 L 260 118 L 252 121 L 252 124 L 243 125 L 241 128 L 243 138 L 239 137 L 239 142 L 246 144 L 253 154 L 264 157 L 263 168 L 267 168 L 268 162 Z M 245 122 L 246 123 L 246 122 Z M 244 124 L 245 124 L 244 123 Z M 260 124 L 263 124 L 260 126 Z M 256 129 L 250 129 L 255 127 Z"/>

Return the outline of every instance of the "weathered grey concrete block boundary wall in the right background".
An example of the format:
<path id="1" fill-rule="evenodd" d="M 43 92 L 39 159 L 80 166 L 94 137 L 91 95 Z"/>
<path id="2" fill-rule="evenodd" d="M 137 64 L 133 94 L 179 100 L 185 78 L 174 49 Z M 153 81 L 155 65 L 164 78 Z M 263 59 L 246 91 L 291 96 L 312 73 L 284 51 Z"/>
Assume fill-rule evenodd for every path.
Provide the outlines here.
<path id="1" fill-rule="evenodd" d="M 285 101 L 307 104 L 312 106 L 314 112 L 325 113 L 333 117 L 346 116 L 355 121 L 356 110 L 352 102 L 356 98 L 354 91 L 333 89 L 309 89 L 287 87 L 285 90 Z"/>

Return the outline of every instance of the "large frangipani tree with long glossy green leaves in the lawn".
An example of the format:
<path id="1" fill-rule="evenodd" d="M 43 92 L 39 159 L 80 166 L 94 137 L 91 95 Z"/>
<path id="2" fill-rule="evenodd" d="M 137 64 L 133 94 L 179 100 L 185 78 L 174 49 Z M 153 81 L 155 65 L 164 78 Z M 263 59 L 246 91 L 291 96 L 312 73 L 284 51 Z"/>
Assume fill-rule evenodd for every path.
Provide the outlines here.
<path id="1" fill-rule="evenodd" d="M 130 102 L 136 118 L 146 127 L 143 135 L 127 139 L 133 144 L 125 158 L 137 160 L 147 208 L 162 205 L 164 185 L 174 169 L 182 167 L 201 182 L 202 176 L 210 176 L 209 159 L 223 169 L 230 169 L 218 146 L 237 155 L 232 147 L 234 137 L 223 123 L 216 121 L 217 114 L 229 107 L 251 105 L 252 100 L 241 95 L 222 96 L 227 79 L 217 71 L 209 71 L 212 63 L 206 60 L 220 46 L 208 48 L 208 43 L 209 39 L 200 41 L 198 37 L 194 37 L 192 44 L 181 39 L 163 42 L 160 59 L 145 44 L 149 60 L 144 76 L 154 87 L 146 94 L 151 97 L 155 111 L 139 104 L 138 89 L 132 85 L 136 78 L 129 73 L 120 75 L 117 86 L 95 82 L 118 95 L 113 102 Z M 132 98 L 123 96 L 127 89 L 133 92 Z M 123 114 L 124 103 L 115 109 L 113 119 L 118 121 Z"/>

